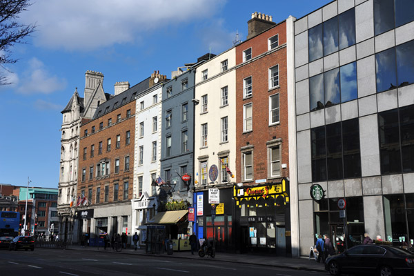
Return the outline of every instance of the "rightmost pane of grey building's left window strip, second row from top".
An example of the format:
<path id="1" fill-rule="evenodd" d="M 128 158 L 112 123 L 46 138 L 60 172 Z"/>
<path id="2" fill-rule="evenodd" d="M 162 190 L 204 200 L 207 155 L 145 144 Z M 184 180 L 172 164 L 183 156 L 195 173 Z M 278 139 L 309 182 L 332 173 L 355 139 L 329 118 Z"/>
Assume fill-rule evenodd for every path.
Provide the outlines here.
<path id="1" fill-rule="evenodd" d="M 339 68 L 341 80 L 341 102 L 357 99 L 357 63 L 349 63 Z"/>

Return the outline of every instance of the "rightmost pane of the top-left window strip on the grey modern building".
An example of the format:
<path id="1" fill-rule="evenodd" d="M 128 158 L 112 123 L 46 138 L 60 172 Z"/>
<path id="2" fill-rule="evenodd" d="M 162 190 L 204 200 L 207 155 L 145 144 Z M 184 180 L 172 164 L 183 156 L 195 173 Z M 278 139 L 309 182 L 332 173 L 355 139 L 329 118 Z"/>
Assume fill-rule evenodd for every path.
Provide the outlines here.
<path id="1" fill-rule="evenodd" d="M 355 44 L 355 9 L 347 10 L 338 16 L 339 50 Z"/>

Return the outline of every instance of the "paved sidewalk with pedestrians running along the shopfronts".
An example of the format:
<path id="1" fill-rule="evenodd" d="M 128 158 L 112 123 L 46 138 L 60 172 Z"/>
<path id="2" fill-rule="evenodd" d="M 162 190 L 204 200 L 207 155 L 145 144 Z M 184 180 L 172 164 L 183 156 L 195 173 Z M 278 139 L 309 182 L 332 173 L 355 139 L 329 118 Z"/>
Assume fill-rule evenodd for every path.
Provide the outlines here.
<path id="1" fill-rule="evenodd" d="M 191 255 L 190 251 L 177 252 L 174 251 L 172 255 L 164 254 L 146 254 L 144 248 L 133 250 L 133 249 L 123 249 L 121 252 L 115 252 L 112 248 L 108 250 L 103 250 L 102 247 L 97 249 L 97 247 L 81 247 L 81 246 L 70 246 L 68 250 L 88 250 L 101 253 L 113 253 L 113 254 L 129 254 L 129 255 L 146 255 L 152 257 L 164 257 L 164 258 L 183 258 L 183 259 L 197 259 L 197 260 L 214 260 L 217 262 L 230 262 L 230 263 L 240 263 L 240 264 L 255 264 L 258 266 L 274 266 L 279 268 L 291 268 L 295 270 L 308 270 L 316 272 L 325 272 L 324 264 L 318 264 L 315 262 L 315 259 L 308 257 L 301 258 L 289 258 L 289 257 L 278 257 L 275 255 L 247 255 L 247 254 L 229 254 L 229 253 L 216 253 L 214 259 L 210 257 L 199 257 L 197 253 Z"/>

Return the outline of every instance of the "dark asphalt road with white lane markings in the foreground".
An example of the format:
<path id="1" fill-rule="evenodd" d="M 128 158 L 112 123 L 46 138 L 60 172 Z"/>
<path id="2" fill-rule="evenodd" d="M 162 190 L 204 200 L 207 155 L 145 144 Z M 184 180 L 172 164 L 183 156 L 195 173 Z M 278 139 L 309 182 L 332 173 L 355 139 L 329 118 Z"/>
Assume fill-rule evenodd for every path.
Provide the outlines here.
<path id="1" fill-rule="evenodd" d="M 181 259 L 36 248 L 34 251 L 0 250 L 2 276 L 17 275 L 151 275 L 151 276 L 240 276 L 328 275 L 313 271 L 217 262 L 214 259 Z"/>

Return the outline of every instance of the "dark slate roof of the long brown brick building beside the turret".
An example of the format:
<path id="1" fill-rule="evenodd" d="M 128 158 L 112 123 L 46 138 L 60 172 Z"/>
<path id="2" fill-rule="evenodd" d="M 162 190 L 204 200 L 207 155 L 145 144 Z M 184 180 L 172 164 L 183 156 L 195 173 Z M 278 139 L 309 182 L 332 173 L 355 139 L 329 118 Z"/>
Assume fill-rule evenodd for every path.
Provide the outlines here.
<path id="1" fill-rule="evenodd" d="M 112 97 L 108 98 L 105 93 L 107 101 L 99 105 L 92 119 L 97 119 L 98 117 L 101 117 L 102 115 L 105 115 L 112 110 L 119 108 L 119 106 L 124 106 L 124 104 L 134 101 L 135 96 L 141 94 L 148 88 L 150 88 L 150 77 L 144 79 L 144 81 L 141 81 L 140 83 L 135 84 L 135 86 L 132 86 L 128 90 L 125 90 L 116 96 L 112 95 Z M 115 103 L 117 104 L 115 105 Z M 106 108 L 108 108 L 108 110 L 106 110 Z"/>

